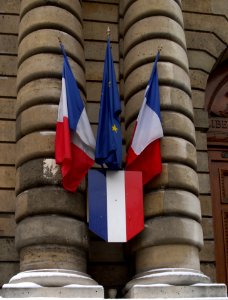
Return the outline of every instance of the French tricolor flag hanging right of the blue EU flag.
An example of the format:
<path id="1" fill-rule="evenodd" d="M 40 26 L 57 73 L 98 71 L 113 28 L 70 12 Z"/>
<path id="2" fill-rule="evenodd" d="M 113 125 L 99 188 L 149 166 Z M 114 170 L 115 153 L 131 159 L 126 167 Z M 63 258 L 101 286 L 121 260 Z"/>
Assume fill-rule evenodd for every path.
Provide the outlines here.
<path id="1" fill-rule="evenodd" d="M 143 184 L 146 184 L 162 171 L 160 138 L 163 137 L 163 129 L 160 115 L 158 59 L 159 52 L 155 58 L 126 157 L 126 170 L 141 171 Z"/>

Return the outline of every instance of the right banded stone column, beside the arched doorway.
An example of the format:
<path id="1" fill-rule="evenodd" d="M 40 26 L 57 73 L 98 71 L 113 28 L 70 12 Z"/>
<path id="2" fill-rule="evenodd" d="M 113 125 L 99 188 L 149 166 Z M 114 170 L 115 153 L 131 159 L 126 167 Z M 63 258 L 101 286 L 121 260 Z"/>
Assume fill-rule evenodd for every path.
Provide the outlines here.
<path id="1" fill-rule="evenodd" d="M 203 233 L 181 1 L 125 0 L 123 11 L 127 146 L 160 47 L 158 74 L 165 135 L 161 141 L 162 174 L 144 190 L 145 229 L 132 242 L 136 276 L 125 287 L 126 297 L 199 297 L 199 288 L 193 291 L 188 286 L 208 283 L 209 278 L 200 271 Z"/>

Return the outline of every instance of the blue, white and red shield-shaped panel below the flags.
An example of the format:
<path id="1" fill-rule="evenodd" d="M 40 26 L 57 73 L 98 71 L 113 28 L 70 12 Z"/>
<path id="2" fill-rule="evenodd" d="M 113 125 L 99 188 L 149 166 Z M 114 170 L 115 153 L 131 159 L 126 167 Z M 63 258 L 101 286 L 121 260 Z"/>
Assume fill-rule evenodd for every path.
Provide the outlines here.
<path id="1" fill-rule="evenodd" d="M 90 170 L 89 229 L 107 242 L 127 242 L 144 228 L 142 173 Z"/>

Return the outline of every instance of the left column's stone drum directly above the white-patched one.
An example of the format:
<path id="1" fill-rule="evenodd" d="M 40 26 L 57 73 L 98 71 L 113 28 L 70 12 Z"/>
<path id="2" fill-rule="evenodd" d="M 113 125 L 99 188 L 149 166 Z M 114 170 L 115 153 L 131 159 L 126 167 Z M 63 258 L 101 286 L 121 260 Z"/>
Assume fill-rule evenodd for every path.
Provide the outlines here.
<path id="1" fill-rule="evenodd" d="M 16 144 L 16 166 L 40 157 L 54 157 L 55 132 L 33 132 L 25 135 Z"/>

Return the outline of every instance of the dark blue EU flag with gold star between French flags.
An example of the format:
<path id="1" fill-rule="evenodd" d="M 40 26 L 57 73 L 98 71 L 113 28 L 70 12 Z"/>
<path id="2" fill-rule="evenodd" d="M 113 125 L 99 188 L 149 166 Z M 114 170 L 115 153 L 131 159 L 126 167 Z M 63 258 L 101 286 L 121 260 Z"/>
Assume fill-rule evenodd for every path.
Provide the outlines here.
<path id="1" fill-rule="evenodd" d="M 108 38 L 100 99 L 95 161 L 109 169 L 121 168 L 122 135 L 120 128 L 120 97 Z"/>

